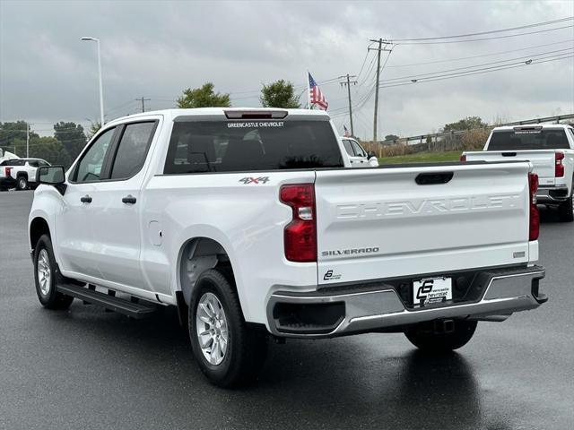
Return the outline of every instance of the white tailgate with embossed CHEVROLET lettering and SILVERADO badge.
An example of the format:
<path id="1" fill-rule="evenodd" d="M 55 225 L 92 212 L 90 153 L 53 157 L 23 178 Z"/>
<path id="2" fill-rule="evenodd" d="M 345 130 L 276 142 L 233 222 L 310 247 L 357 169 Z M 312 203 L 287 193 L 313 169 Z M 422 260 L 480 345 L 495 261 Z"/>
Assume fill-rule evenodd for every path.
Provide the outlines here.
<path id="1" fill-rule="evenodd" d="M 317 171 L 319 284 L 528 262 L 528 169 L 514 162 Z"/>

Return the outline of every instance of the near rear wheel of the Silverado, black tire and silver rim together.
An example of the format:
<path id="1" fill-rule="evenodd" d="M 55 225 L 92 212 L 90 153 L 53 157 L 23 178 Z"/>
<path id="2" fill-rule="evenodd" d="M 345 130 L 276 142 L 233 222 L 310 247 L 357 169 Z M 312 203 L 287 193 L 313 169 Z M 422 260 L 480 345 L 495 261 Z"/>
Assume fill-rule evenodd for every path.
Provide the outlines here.
<path id="1" fill-rule="evenodd" d="M 237 293 L 222 271 L 204 271 L 189 309 L 191 347 L 204 375 L 221 387 L 254 380 L 265 362 L 267 336 L 248 328 Z"/>

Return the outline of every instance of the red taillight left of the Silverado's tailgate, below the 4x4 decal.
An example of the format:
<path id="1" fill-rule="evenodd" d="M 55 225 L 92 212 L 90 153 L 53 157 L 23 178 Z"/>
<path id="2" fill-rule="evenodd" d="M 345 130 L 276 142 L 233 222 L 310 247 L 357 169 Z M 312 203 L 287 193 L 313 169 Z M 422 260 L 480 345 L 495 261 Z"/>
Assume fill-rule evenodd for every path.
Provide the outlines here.
<path id="1" fill-rule="evenodd" d="M 314 185 L 283 185 L 279 198 L 293 211 L 293 219 L 284 230 L 285 258 L 290 262 L 317 262 Z"/>

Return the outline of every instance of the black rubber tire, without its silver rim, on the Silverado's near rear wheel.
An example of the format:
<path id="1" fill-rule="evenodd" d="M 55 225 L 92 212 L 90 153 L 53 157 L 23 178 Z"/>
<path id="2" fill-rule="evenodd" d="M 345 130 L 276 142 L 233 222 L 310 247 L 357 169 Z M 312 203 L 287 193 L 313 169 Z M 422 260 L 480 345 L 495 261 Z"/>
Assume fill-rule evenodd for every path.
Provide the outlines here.
<path id="1" fill-rule="evenodd" d="M 232 282 L 232 280 L 231 280 Z M 220 302 L 227 325 L 227 349 L 221 363 L 213 365 L 204 357 L 197 334 L 196 315 L 200 300 L 212 293 Z M 248 328 L 239 297 L 222 271 L 204 271 L 196 282 L 188 313 L 189 339 L 196 363 L 204 375 L 220 387 L 231 388 L 253 382 L 265 363 L 267 335 Z M 211 326 L 212 328 L 215 326 Z M 203 329 L 200 327 L 200 330 Z M 212 340 L 213 348 L 213 340 Z"/>

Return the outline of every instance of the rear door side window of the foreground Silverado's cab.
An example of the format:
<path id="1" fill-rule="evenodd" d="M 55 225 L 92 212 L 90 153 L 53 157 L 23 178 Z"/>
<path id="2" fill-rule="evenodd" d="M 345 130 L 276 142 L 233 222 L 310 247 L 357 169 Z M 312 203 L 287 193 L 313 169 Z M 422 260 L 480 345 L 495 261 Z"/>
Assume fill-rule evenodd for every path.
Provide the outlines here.
<path id="1" fill-rule="evenodd" d="M 126 125 L 111 169 L 111 179 L 126 179 L 141 170 L 155 125 L 155 122 Z"/>

